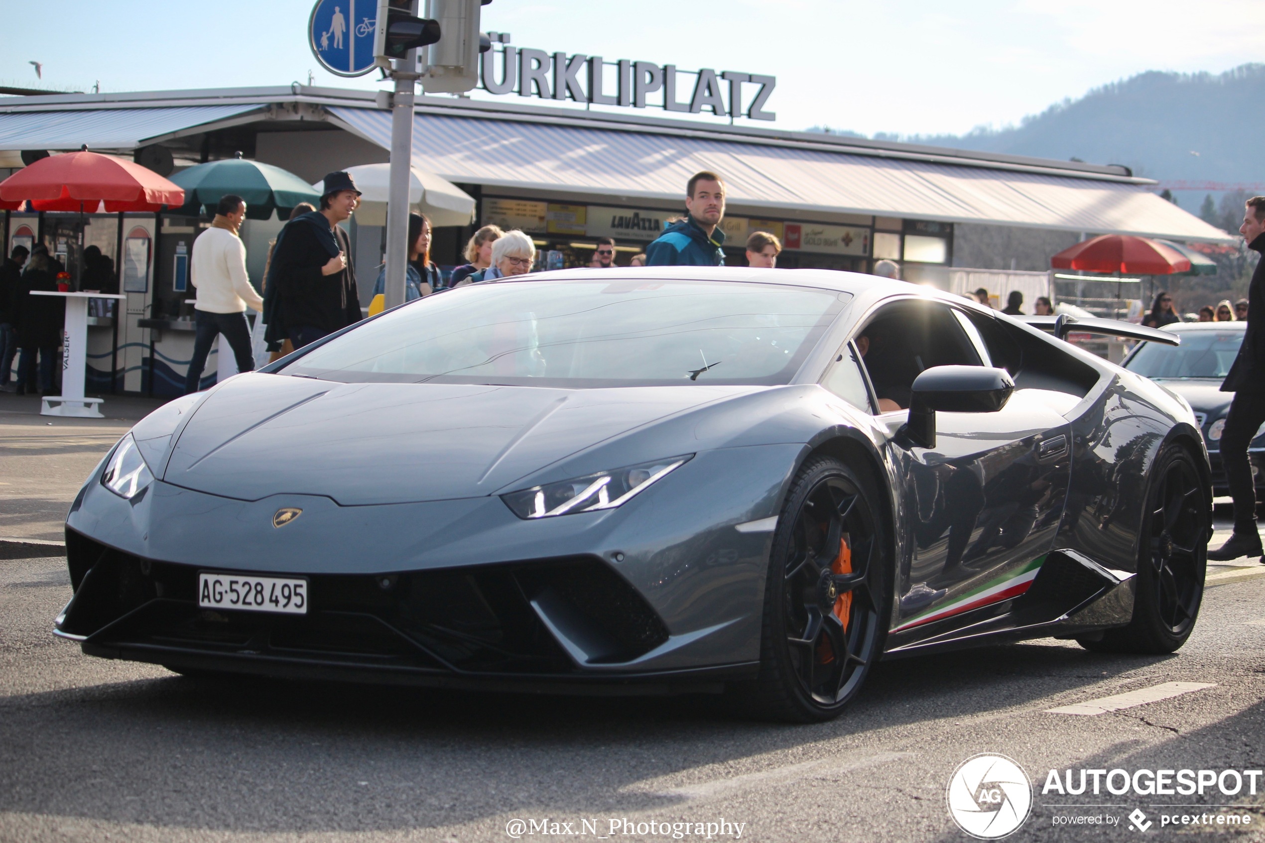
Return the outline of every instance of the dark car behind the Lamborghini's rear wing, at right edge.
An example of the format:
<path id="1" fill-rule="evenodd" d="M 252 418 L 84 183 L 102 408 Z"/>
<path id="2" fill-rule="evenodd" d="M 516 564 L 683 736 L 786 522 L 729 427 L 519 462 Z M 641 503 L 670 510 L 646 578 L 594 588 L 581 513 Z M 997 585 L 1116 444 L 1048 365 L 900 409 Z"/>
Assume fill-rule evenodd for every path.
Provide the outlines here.
<path id="1" fill-rule="evenodd" d="M 1182 337 L 1174 348 L 1160 343 L 1140 343 L 1122 365 L 1178 393 L 1194 409 L 1212 465 L 1213 494 L 1230 494 L 1226 470 L 1221 465 L 1221 431 L 1226 427 L 1232 392 L 1221 392 L 1221 382 L 1235 363 L 1247 322 L 1179 322 L 1169 325 Z M 1265 492 L 1265 426 L 1256 431 L 1249 458 L 1257 497 Z"/>

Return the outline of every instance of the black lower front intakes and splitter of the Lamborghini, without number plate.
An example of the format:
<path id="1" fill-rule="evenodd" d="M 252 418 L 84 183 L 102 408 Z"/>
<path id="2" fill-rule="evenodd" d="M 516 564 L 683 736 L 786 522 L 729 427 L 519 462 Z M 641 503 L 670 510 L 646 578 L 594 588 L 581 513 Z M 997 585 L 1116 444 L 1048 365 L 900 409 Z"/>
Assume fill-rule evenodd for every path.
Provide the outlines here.
<path id="1" fill-rule="evenodd" d="M 92 565 L 57 619 L 83 652 L 178 670 L 476 688 L 707 690 L 749 665 L 624 670 L 673 646 L 659 616 L 596 557 L 390 575 L 309 576 L 306 616 L 204 609 L 199 566 L 67 532 Z M 679 646 L 679 645 L 678 645 Z M 587 662 L 587 664 L 586 664 Z"/>

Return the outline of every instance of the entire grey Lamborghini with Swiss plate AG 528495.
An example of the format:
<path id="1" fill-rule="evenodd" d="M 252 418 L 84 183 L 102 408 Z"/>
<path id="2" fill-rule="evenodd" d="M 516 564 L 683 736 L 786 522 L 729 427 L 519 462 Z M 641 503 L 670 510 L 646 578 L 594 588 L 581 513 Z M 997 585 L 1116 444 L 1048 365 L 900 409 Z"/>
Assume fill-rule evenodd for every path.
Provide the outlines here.
<path id="1" fill-rule="evenodd" d="M 177 672 L 724 691 L 792 720 L 880 657 L 1176 650 L 1199 427 L 1041 327 L 825 270 L 438 293 L 138 423 L 71 508 L 57 634 Z"/>

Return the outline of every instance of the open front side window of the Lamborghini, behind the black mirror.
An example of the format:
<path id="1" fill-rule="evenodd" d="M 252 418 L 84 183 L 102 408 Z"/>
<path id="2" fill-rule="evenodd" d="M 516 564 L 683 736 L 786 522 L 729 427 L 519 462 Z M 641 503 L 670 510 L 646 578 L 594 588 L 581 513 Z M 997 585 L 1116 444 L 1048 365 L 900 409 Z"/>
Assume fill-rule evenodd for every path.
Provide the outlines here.
<path id="1" fill-rule="evenodd" d="M 879 412 L 908 409 L 915 378 L 937 365 L 980 365 L 979 353 L 945 305 L 906 300 L 887 305 L 853 337 Z"/>

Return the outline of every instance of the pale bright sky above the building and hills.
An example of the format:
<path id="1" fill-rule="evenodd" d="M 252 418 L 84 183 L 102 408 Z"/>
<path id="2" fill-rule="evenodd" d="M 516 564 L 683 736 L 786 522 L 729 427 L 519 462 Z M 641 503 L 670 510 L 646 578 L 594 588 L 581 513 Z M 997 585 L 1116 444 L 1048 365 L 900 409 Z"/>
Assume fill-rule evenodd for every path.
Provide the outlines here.
<path id="1" fill-rule="evenodd" d="M 306 82 L 311 71 L 316 85 L 385 88 L 376 75 L 320 70 L 307 44 L 311 9 L 312 0 L 9 3 L 0 85 L 238 87 Z M 751 125 L 863 134 L 1002 128 L 1142 71 L 1219 73 L 1265 61 L 1261 0 L 493 0 L 482 29 L 550 53 L 773 75 L 767 107 L 777 120 Z"/>

